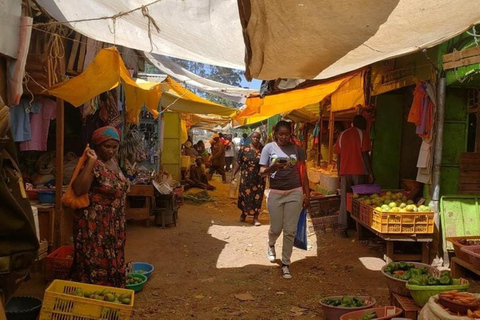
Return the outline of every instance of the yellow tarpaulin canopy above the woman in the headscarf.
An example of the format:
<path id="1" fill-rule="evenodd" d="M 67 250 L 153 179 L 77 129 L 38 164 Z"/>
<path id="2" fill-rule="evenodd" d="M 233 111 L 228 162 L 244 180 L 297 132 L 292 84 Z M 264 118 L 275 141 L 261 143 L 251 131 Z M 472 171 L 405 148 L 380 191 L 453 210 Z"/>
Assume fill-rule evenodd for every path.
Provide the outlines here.
<path id="1" fill-rule="evenodd" d="M 48 92 L 79 107 L 120 83 L 124 86 L 126 119 L 130 123 L 138 123 L 143 106 L 157 118 L 160 101 L 162 107 L 172 111 L 227 117 L 236 114 L 235 109 L 203 99 L 170 77 L 162 83 L 135 82 L 115 47 L 100 50 L 84 72 L 51 87 Z"/>

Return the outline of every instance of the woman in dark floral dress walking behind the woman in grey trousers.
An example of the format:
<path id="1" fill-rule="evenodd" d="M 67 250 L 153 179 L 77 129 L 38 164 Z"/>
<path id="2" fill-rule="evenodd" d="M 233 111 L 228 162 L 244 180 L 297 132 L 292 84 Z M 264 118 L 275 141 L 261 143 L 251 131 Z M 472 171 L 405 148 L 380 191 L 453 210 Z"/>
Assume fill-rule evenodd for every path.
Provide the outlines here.
<path id="1" fill-rule="evenodd" d="M 240 221 L 245 222 L 247 215 L 253 216 L 253 224 L 260 226 L 258 215 L 262 208 L 263 192 L 265 191 L 265 178 L 260 175 L 260 154 L 262 144 L 260 133 L 251 135 L 251 142 L 243 146 L 237 156 L 237 163 L 233 176 L 240 170 L 240 187 L 238 192 L 238 208 L 242 210 Z"/>

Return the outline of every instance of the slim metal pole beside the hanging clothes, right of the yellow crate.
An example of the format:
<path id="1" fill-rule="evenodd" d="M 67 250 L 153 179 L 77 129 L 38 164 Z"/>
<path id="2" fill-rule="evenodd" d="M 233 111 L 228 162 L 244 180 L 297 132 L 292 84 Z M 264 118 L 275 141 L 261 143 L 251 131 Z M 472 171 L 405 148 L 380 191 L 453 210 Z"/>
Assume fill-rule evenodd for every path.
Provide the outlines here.
<path id="1" fill-rule="evenodd" d="M 442 170 L 442 151 L 443 151 L 443 128 L 445 120 L 445 78 L 440 76 L 437 84 L 437 110 L 436 110 L 436 130 L 433 155 L 433 177 L 432 177 L 432 201 L 430 207 L 435 212 L 435 233 L 432 242 L 433 252 L 439 252 L 440 248 L 440 175 Z M 444 252 L 444 263 L 448 265 L 448 252 Z"/>

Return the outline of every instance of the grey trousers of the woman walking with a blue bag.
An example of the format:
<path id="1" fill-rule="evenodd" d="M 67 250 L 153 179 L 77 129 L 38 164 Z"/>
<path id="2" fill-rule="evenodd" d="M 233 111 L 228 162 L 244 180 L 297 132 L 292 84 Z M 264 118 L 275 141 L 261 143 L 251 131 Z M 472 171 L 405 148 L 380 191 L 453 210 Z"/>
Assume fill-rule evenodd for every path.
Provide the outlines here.
<path id="1" fill-rule="evenodd" d="M 302 211 L 303 193 L 295 191 L 287 195 L 268 192 L 267 207 L 270 212 L 268 245 L 274 246 L 283 231 L 282 263 L 290 265 L 293 240 L 297 232 L 298 218 Z"/>

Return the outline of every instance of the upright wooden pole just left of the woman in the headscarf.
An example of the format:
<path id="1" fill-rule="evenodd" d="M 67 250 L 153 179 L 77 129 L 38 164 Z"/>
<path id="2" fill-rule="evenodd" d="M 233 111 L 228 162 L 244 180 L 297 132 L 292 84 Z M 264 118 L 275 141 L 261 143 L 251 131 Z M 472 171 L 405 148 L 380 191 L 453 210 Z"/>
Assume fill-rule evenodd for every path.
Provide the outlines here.
<path id="1" fill-rule="evenodd" d="M 55 189 L 55 216 L 54 230 L 55 237 L 53 239 L 55 248 L 62 244 L 62 220 L 63 220 L 63 154 L 64 154 L 64 129 L 65 129 L 65 108 L 62 99 L 57 98 L 57 130 L 56 130 L 56 148 L 55 148 L 55 167 L 56 167 L 56 189 Z"/>

